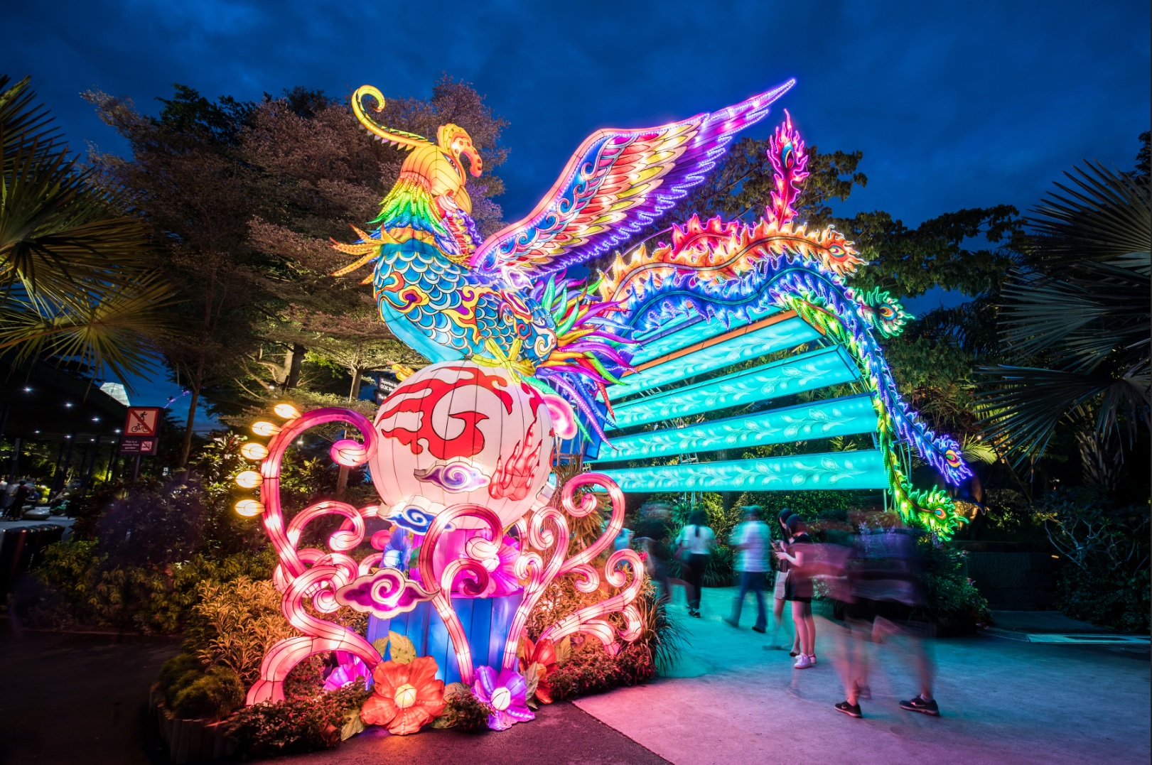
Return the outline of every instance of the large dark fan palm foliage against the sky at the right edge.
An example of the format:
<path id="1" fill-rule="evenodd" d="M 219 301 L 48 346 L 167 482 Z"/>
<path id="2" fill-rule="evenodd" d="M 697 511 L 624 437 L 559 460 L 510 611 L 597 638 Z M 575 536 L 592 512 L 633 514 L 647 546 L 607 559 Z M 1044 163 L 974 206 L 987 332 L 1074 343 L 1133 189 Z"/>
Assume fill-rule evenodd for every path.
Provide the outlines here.
<path id="1" fill-rule="evenodd" d="M 1017 464 L 1069 418 L 1094 419 L 1101 435 L 1152 426 L 1149 187 L 1091 164 L 1068 177 L 1030 219 L 1033 270 L 1002 293 L 1001 335 L 1017 365 L 980 370 L 984 434 Z"/>

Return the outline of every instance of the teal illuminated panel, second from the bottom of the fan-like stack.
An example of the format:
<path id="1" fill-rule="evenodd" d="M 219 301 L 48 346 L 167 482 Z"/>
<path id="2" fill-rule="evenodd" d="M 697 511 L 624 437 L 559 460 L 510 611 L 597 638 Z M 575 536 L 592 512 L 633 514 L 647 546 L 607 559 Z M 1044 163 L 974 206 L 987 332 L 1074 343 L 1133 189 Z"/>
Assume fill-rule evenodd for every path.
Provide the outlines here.
<path id="1" fill-rule="evenodd" d="M 713 419 L 672 430 L 645 431 L 612 439 L 590 462 L 664 457 L 694 452 L 714 452 L 761 444 L 787 444 L 797 439 L 832 438 L 876 431 L 871 394 L 804 403 L 772 411 Z"/>

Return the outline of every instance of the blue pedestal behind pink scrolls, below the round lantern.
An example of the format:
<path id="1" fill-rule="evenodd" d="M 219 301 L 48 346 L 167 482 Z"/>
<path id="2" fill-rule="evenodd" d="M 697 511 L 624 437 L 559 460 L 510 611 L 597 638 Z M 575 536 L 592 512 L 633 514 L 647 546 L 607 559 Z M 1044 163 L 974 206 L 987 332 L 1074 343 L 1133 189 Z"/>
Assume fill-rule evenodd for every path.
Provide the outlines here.
<path id="1" fill-rule="evenodd" d="M 523 597 L 523 593 L 517 592 L 502 598 L 453 598 L 452 606 L 468 636 L 473 667 L 487 665 L 500 669 L 508 629 Z M 445 683 L 460 682 L 456 651 L 453 649 L 452 638 L 448 637 L 448 629 L 440 621 L 431 603 L 422 603 L 412 611 L 392 619 L 367 618 L 369 643 L 388 637 L 389 631 L 410 639 L 416 646 L 417 656 L 430 656 L 435 659 L 437 677 Z M 391 645 L 385 651 L 384 658 L 385 660 L 392 658 Z"/>

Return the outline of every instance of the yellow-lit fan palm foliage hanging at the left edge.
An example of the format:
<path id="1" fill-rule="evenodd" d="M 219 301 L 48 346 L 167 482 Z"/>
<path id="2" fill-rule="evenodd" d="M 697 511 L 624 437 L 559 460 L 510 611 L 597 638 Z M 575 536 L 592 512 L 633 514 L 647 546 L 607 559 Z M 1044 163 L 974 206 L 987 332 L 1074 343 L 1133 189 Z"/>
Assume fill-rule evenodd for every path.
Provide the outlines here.
<path id="1" fill-rule="evenodd" d="M 0 353 L 121 379 L 152 366 L 170 288 L 144 221 L 60 147 L 28 78 L 0 76 Z"/>

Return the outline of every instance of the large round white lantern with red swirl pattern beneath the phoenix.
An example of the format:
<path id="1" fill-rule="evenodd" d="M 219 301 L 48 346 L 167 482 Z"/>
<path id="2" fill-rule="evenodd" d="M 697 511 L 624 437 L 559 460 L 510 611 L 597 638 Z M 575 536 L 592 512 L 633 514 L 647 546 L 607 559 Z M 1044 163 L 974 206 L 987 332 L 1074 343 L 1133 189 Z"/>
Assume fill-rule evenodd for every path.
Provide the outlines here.
<path id="1" fill-rule="evenodd" d="M 395 516 L 470 502 L 507 527 L 537 501 L 552 469 L 548 406 L 502 368 L 426 366 L 385 399 L 376 430 L 372 479 Z"/>

